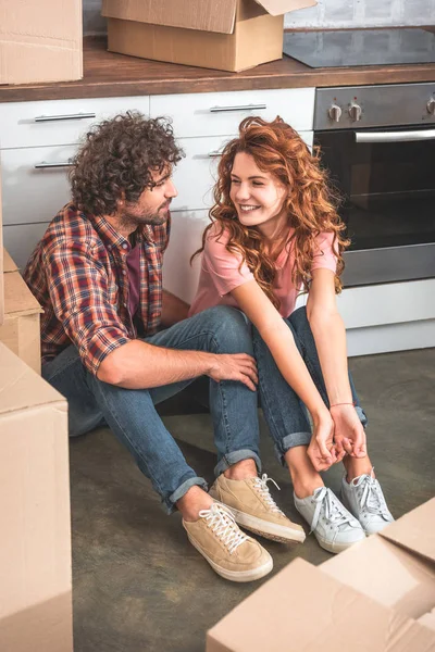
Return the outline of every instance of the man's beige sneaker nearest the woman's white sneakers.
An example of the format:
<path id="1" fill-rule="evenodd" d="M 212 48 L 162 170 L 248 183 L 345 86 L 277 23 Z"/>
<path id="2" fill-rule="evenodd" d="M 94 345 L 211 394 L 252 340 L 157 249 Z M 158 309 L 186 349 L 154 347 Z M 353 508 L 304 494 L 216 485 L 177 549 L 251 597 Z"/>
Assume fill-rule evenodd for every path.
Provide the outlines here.
<path id="1" fill-rule="evenodd" d="M 304 541 L 303 528 L 291 523 L 270 494 L 269 480 L 272 478 L 266 474 L 245 480 L 229 480 L 222 474 L 210 489 L 210 496 L 229 507 L 241 527 L 257 535 L 284 543 Z M 277 487 L 274 480 L 272 482 Z"/>

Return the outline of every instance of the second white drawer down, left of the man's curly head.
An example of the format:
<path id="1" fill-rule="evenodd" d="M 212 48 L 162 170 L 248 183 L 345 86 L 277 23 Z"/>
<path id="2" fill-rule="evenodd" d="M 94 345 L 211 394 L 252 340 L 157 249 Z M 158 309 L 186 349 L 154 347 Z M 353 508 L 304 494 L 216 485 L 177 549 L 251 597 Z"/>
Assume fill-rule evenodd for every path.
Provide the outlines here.
<path id="1" fill-rule="evenodd" d="M 54 217 L 71 197 L 69 167 L 63 164 L 67 164 L 75 149 L 59 146 L 1 152 L 4 225 L 47 222 Z"/>

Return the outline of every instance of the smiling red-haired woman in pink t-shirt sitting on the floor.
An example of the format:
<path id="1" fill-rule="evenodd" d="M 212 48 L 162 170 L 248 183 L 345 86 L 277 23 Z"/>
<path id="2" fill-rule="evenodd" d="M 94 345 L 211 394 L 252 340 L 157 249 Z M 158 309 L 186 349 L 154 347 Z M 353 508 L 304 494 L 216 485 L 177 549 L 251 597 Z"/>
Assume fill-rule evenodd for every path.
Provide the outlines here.
<path id="1" fill-rule="evenodd" d="M 214 200 L 190 314 L 227 304 L 252 323 L 261 403 L 296 507 L 319 543 L 339 552 L 393 516 L 348 375 L 335 294 L 349 241 L 334 196 L 318 155 L 291 127 L 248 117 L 223 150 Z M 294 312 L 301 289 L 307 308 Z M 340 461 L 343 502 L 319 474 Z"/>

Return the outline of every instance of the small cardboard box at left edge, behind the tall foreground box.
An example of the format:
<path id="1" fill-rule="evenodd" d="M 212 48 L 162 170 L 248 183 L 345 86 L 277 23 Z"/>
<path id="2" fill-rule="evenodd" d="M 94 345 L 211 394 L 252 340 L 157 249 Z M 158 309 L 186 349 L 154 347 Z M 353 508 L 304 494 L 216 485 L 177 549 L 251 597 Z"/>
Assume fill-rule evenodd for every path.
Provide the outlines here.
<path id="1" fill-rule="evenodd" d="M 0 326 L 0 342 L 40 374 L 39 315 L 42 310 L 5 249 L 3 256 L 4 321 Z"/>

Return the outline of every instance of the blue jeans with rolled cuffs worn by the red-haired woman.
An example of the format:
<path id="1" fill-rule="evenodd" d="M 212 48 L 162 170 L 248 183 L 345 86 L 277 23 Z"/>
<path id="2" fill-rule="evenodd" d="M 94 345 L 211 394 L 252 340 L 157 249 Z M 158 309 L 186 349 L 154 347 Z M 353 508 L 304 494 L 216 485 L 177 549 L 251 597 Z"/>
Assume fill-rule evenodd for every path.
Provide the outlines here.
<path id="1" fill-rule="evenodd" d="M 288 318 L 284 319 L 284 322 L 293 333 L 296 346 L 310 372 L 315 387 L 326 406 L 330 408 L 326 387 L 306 308 L 299 308 Z M 308 446 L 310 443 L 312 434 L 307 409 L 298 394 L 283 378 L 257 328 L 253 328 L 252 339 L 259 372 L 261 406 L 275 443 L 277 456 L 281 463 L 285 465 L 284 454 L 290 448 Z M 368 419 L 361 409 L 350 374 L 349 380 L 358 416 L 365 427 Z"/>

